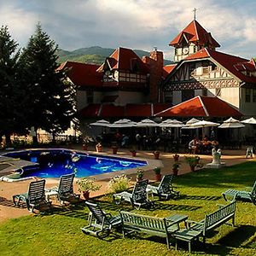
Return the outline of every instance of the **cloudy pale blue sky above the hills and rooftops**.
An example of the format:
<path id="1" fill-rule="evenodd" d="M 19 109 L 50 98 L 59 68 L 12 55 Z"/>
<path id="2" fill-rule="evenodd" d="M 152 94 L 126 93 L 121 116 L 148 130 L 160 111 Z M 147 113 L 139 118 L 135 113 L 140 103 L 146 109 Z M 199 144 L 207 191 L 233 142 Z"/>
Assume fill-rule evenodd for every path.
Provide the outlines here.
<path id="1" fill-rule="evenodd" d="M 61 49 L 99 45 L 163 50 L 193 20 L 212 32 L 218 50 L 256 56 L 255 0 L 0 0 L 0 24 L 26 46 L 38 21 Z"/>

